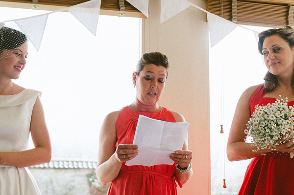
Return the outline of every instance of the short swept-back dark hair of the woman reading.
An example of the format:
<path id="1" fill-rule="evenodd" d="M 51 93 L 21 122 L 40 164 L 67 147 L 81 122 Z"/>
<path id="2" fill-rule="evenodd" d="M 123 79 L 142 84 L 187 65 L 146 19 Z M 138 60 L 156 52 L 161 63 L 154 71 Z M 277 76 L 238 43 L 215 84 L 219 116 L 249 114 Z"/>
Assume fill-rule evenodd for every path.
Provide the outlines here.
<path id="1" fill-rule="evenodd" d="M 138 64 L 136 67 L 136 74 L 139 75 L 146 65 L 157 65 L 157 66 L 161 65 L 165 67 L 167 70 L 167 78 L 168 78 L 168 68 L 170 67 L 170 63 L 166 55 L 163 55 L 160 52 L 144 53 L 141 59 L 138 61 Z"/>

